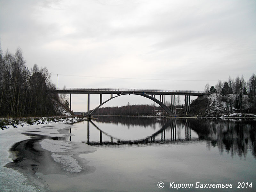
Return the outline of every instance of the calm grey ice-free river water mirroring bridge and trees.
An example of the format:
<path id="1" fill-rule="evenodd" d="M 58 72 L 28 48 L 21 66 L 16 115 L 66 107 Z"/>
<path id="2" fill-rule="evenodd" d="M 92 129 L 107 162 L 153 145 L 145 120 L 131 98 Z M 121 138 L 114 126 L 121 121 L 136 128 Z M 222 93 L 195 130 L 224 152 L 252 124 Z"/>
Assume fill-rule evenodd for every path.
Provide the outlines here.
<path id="1" fill-rule="evenodd" d="M 108 117 L 71 126 L 73 136 L 97 150 L 81 154 L 96 171 L 68 178 L 48 175 L 52 191 L 256 191 L 256 121 Z M 164 182 L 162 189 L 157 187 Z M 196 188 L 196 182 L 233 184 Z M 252 188 L 237 188 L 238 182 Z M 56 184 L 58 183 L 58 185 Z"/>

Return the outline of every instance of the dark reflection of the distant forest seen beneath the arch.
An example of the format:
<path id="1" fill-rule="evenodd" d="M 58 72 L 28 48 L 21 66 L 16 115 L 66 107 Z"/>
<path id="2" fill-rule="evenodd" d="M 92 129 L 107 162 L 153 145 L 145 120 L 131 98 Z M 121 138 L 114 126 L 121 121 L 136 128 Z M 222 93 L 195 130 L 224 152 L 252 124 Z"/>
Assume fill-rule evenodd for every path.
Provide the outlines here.
<path id="1" fill-rule="evenodd" d="M 163 126 L 169 120 L 169 118 L 133 116 L 98 116 L 97 118 L 98 119 L 94 121 L 116 125 L 121 124 L 128 128 L 135 125 L 140 125 L 142 127 L 151 126 L 154 130 L 156 129 L 156 124 Z"/>

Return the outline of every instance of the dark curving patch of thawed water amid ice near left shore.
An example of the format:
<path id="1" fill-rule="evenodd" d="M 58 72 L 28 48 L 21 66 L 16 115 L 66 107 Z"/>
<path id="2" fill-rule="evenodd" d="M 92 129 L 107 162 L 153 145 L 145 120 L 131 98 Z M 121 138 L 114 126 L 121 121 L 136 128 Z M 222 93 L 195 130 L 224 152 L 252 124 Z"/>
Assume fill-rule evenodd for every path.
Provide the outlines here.
<path id="1" fill-rule="evenodd" d="M 95 167 L 87 165 L 88 161 L 86 159 L 78 157 L 80 155 L 80 151 L 78 151 L 79 154 L 76 154 L 76 151 L 71 151 L 68 154 L 79 163 L 81 171 L 66 171 L 63 169 L 61 163 L 53 160 L 53 153 L 41 147 L 40 142 L 46 139 L 47 136 L 34 133 L 23 134 L 28 135 L 31 138 L 17 142 L 12 146 L 12 148 L 10 148 L 10 157 L 13 162 L 6 164 L 4 167 L 20 171 L 29 178 L 29 182 L 31 182 L 31 184 L 36 184 L 41 186 L 41 188 L 44 188 L 43 191 L 48 191 L 46 187 L 47 185 L 45 184 L 44 178 L 42 177 L 40 179 L 38 175 L 60 174 L 72 178 L 79 175 L 89 174 L 96 170 Z M 63 153 L 54 154 L 60 156 Z"/>

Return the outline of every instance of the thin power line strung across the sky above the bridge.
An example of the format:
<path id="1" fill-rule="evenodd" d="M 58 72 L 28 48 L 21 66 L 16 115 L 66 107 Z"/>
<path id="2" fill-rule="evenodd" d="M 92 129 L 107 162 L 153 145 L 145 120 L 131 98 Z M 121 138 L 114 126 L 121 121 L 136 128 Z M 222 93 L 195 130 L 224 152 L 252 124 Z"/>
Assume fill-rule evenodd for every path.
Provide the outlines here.
<path id="1" fill-rule="evenodd" d="M 57 75 L 57 74 L 53 74 Z M 133 79 L 133 80 L 150 80 L 150 81 L 218 81 L 218 80 L 202 80 L 202 79 L 149 79 L 149 78 L 127 78 L 127 77 L 102 77 L 102 76 L 81 76 L 81 75 L 65 75 L 59 74 L 60 76 L 75 76 L 75 77 L 90 77 L 90 78 L 107 78 L 107 79 Z"/>

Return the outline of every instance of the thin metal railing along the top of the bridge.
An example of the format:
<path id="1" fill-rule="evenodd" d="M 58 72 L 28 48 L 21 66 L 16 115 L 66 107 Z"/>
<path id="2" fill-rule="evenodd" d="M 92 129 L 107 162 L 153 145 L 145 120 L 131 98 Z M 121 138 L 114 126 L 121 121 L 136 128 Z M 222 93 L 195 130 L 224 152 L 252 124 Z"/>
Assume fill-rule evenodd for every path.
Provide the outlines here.
<path id="1" fill-rule="evenodd" d="M 177 93 L 202 93 L 207 94 L 206 91 L 192 91 L 192 90 L 166 90 L 166 89 L 111 89 L 111 88 L 59 88 L 59 91 L 116 91 L 116 92 L 177 92 Z"/>

